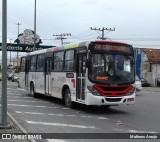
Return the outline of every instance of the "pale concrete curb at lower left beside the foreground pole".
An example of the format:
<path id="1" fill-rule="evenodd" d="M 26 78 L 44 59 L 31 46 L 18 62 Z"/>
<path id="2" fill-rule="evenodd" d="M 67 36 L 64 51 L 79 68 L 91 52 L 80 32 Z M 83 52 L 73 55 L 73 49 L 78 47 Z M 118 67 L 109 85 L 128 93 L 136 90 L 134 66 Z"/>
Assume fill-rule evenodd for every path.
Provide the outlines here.
<path id="1" fill-rule="evenodd" d="M 24 134 L 28 134 L 28 132 L 26 131 L 26 129 L 24 129 L 16 119 L 14 119 L 14 117 L 7 111 L 7 115 L 9 116 L 9 118 L 17 125 L 17 127 L 24 133 Z M 36 142 L 34 139 L 28 139 L 31 142 Z"/>

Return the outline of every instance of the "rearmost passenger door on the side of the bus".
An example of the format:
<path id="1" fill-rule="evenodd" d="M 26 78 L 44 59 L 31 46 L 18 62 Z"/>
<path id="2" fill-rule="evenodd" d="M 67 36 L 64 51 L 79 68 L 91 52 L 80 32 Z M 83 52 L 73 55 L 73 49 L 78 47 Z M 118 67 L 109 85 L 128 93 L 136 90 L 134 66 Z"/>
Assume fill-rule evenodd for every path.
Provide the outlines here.
<path id="1" fill-rule="evenodd" d="M 25 89 L 29 89 L 29 67 L 30 67 L 30 60 L 26 60 L 25 65 Z"/>

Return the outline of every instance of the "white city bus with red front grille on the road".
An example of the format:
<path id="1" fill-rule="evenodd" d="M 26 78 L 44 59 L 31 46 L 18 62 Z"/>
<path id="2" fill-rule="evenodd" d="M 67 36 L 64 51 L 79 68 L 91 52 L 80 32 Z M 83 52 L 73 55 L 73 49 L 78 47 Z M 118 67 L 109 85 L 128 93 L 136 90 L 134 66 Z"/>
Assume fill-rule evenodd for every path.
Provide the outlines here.
<path id="1" fill-rule="evenodd" d="M 97 40 L 34 51 L 21 58 L 20 86 L 73 102 L 112 106 L 135 102 L 133 47 Z"/>

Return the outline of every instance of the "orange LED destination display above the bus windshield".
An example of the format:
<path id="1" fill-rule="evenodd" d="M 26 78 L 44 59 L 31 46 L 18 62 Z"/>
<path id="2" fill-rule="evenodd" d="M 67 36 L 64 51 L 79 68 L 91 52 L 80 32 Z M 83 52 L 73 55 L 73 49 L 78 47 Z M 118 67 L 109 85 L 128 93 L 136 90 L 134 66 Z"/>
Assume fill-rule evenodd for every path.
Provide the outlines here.
<path id="1" fill-rule="evenodd" d="M 116 46 L 116 45 L 101 45 L 95 44 L 95 50 L 106 50 L 106 51 L 125 51 L 125 46 Z"/>

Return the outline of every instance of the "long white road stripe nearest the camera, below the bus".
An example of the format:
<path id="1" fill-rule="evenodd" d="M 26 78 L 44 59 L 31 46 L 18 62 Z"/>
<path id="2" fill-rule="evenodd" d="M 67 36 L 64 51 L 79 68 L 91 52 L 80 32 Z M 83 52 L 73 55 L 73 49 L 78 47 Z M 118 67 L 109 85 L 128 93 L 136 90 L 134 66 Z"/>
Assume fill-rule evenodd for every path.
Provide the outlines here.
<path id="1" fill-rule="evenodd" d="M 82 128 L 82 129 L 95 129 L 95 126 L 84 126 L 84 125 L 73 125 L 73 124 L 63 124 L 63 123 L 48 123 L 48 122 L 35 122 L 26 121 L 29 124 L 40 124 L 46 126 L 58 126 L 58 127 L 72 127 L 72 128 Z"/>

